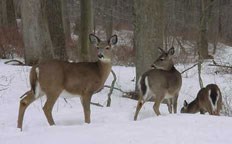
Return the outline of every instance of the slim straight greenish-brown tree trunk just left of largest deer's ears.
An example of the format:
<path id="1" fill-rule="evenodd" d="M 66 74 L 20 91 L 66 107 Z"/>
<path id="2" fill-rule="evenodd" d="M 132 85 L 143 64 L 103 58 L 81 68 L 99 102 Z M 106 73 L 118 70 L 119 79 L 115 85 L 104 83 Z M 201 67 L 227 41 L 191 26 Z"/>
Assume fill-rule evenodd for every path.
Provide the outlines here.
<path id="1" fill-rule="evenodd" d="M 93 30 L 93 5 L 92 0 L 81 1 L 81 29 L 80 29 L 80 61 L 91 61 L 92 49 L 89 47 L 89 34 Z"/>

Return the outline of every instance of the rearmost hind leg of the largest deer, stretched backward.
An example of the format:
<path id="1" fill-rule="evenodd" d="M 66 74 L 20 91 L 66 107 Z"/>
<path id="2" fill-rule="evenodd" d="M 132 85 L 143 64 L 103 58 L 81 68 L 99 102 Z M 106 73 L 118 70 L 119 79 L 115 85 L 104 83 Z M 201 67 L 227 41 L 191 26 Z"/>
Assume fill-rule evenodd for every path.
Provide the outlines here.
<path id="1" fill-rule="evenodd" d="M 19 114 L 18 114 L 17 127 L 20 128 L 21 130 L 22 130 L 22 126 L 23 126 L 23 117 L 25 114 L 25 110 L 33 101 L 35 101 L 35 96 L 34 96 L 33 91 L 30 90 L 30 91 L 26 92 L 25 95 L 26 96 L 20 101 Z"/>

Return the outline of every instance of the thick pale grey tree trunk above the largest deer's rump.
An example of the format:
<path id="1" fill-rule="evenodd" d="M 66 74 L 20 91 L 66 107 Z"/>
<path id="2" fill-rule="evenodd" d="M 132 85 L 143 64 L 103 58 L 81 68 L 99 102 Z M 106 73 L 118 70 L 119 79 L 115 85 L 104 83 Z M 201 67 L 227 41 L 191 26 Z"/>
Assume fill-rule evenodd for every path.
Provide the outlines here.
<path id="1" fill-rule="evenodd" d="M 53 58 L 52 43 L 43 6 L 40 0 L 22 0 L 22 33 L 27 65 Z"/>

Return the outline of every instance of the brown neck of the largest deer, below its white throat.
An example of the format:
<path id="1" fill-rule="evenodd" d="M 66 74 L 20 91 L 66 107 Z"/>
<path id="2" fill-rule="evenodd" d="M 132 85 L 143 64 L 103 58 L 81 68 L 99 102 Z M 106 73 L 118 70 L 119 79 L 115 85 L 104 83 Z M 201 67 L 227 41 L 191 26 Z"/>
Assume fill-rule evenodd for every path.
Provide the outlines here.
<path id="1" fill-rule="evenodd" d="M 97 64 L 99 67 L 100 76 L 103 82 L 105 82 L 112 68 L 111 60 L 98 60 Z"/>

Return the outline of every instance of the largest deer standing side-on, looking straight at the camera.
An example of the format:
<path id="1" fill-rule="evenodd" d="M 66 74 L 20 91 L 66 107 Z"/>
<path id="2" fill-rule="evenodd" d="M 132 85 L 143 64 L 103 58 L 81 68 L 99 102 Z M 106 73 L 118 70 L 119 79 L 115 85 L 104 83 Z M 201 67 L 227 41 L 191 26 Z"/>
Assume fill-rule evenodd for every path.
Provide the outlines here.
<path id="1" fill-rule="evenodd" d="M 90 102 L 94 93 L 104 85 L 111 71 L 112 45 L 118 41 L 113 35 L 108 41 L 101 41 L 97 36 L 89 35 L 90 43 L 97 48 L 98 61 L 70 63 L 50 60 L 33 66 L 30 72 L 31 90 L 20 101 L 18 128 L 22 129 L 26 108 L 39 97 L 46 95 L 43 107 L 50 125 L 55 122 L 52 109 L 57 98 L 62 94 L 80 96 L 84 109 L 85 122 L 90 123 Z"/>

